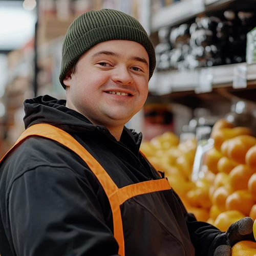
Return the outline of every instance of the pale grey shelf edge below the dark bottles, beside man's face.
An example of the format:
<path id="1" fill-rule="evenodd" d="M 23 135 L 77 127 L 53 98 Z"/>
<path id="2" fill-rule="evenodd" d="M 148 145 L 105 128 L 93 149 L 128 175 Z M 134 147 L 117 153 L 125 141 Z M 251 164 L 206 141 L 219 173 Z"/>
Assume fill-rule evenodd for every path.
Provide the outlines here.
<path id="1" fill-rule="evenodd" d="M 212 88 L 232 87 L 234 73 L 241 65 L 247 67 L 247 81 L 255 80 L 256 82 L 256 63 L 247 66 L 242 63 L 202 68 L 194 71 L 155 72 L 150 80 L 149 90 L 156 95 L 166 95 L 172 92 L 185 91 L 204 93 L 210 92 Z"/>

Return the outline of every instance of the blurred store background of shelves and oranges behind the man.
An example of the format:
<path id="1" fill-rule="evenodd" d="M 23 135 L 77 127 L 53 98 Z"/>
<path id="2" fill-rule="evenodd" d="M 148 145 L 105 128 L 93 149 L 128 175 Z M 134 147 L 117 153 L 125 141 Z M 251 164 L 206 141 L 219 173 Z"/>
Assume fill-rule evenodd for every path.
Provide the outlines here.
<path id="1" fill-rule="evenodd" d="M 255 220 L 255 0 L 0 0 L 0 155 L 24 131 L 24 99 L 65 98 L 63 37 L 101 8 L 137 18 L 155 46 L 150 93 L 127 123 L 143 153 L 198 220 Z"/>

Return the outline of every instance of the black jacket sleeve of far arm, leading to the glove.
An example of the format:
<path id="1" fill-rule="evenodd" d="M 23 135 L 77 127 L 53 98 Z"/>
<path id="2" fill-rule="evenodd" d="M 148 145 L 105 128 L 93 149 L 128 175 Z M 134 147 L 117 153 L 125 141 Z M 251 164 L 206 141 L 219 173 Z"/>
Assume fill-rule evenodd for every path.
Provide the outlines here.
<path id="1" fill-rule="evenodd" d="M 218 234 L 223 232 L 220 231 L 217 227 L 212 226 L 206 222 L 197 221 L 193 214 L 187 212 L 185 206 L 175 191 L 174 194 L 183 210 L 190 240 L 195 248 L 196 256 L 206 256 L 212 241 Z"/>

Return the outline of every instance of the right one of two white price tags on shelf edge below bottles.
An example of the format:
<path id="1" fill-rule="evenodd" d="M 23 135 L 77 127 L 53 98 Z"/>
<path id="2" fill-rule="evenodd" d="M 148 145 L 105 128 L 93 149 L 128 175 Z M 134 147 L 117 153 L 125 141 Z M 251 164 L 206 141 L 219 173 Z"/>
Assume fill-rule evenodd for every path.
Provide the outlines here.
<path id="1" fill-rule="evenodd" d="M 247 87 L 247 64 L 241 63 L 234 67 L 233 88 L 240 89 Z"/>

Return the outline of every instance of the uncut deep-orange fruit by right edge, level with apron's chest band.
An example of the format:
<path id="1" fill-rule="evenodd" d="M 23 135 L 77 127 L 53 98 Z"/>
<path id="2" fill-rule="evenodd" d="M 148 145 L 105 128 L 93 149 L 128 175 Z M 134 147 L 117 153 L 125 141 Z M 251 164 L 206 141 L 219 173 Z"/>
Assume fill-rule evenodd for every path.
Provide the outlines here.
<path id="1" fill-rule="evenodd" d="M 252 175 L 252 171 L 245 164 L 239 164 L 229 173 L 230 185 L 233 190 L 247 189 L 248 181 Z"/>

